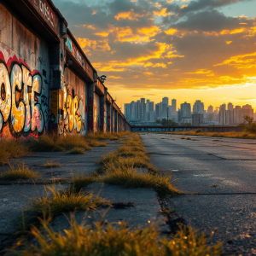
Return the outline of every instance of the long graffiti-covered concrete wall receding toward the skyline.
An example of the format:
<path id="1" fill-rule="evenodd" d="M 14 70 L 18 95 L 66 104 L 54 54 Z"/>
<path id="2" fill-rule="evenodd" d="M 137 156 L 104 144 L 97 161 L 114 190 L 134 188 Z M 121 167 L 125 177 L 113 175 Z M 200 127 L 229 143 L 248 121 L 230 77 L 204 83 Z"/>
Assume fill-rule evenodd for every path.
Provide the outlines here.
<path id="1" fill-rule="evenodd" d="M 0 24 L 0 137 L 131 129 L 50 0 L 3 0 Z"/>

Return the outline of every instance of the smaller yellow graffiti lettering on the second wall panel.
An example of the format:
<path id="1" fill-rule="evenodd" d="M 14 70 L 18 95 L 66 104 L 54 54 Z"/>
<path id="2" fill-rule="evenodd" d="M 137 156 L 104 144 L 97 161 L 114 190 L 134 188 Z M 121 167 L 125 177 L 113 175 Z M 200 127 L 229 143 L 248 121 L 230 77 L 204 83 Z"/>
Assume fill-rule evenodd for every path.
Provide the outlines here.
<path id="1" fill-rule="evenodd" d="M 86 108 L 83 98 L 73 96 L 72 87 L 64 87 L 64 132 L 85 131 Z"/>

